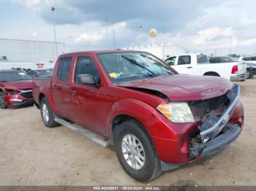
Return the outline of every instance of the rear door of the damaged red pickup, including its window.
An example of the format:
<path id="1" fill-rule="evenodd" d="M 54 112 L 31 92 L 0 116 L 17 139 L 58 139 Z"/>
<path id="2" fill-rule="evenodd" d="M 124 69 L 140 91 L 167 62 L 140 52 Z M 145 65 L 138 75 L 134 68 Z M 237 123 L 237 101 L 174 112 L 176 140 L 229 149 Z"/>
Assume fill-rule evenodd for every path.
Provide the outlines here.
<path id="1" fill-rule="evenodd" d="M 61 58 L 57 73 L 54 74 L 52 82 L 53 104 L 56 106 L 57 113 L 62 117 L 71 119 L 70 106 L 70 81 L 69 74 L 72 64 L 72 57 Z"/>

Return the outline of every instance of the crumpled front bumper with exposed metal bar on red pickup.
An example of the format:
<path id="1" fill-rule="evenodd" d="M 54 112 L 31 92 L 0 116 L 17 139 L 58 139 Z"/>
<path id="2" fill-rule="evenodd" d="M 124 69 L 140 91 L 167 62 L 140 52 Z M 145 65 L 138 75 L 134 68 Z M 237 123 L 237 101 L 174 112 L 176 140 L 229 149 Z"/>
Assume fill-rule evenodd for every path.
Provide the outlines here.
<path id="1" fill-rule="evenodd" d="M 231 122 L 230 118 L 238 104 L 239 95 L 240 87 L 234 85 L 232 90 L 227 93 L 230 104 L 227 106 L 224 114 L 220 117 L 211 114 L 207 120 L 198 127 L 198 141 L 196 144 L 189 145 L 189 161 L 187 163 L 203 157 L 211 157 L 211 155 L 225 149 L 225 147 L 237 139 L 238 135 L 241 133 L 244 118 L 242 118 L 241 121 L 239 119 L 236 123 Z M 178 168 L 180 165 L 184 165 L 184 163 L 170 164 L 162 162 L 162 170 L 169 171 Z"/>

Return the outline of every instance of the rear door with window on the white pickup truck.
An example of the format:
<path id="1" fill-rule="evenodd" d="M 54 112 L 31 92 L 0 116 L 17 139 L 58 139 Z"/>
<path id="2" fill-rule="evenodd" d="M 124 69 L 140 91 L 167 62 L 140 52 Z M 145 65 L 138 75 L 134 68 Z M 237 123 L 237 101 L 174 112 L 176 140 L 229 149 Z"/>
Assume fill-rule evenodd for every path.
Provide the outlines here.
<path id="1" fill-rule="evenodd" d="M 179 55 L 176 58 L 176 62 L 174 66 L 172 67 L 173 69 L 178 71 L 179 74 L 188 74 L 188 75 L 194 74 L 191 55 Z"/>

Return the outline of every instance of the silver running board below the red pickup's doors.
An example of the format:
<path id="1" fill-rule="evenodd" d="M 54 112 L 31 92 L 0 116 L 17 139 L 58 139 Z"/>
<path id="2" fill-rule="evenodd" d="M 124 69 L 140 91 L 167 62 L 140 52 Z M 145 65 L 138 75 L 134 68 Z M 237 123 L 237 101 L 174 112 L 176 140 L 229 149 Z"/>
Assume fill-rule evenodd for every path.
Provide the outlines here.
<path id="1" fill-rule="evenodd" d="M 95 143 L 101 145 L 102 147 L 108 147 L 108 141 L 100 139 L 99 137 L 91 133 L 89 130 L 77 128 L 75 125 L 72 125 L 70 122 L 67 122 L 66 120 L 62 120 L 61 118 L 54 118 L 54 120 L 66 128 L 81 133 L 83 136 L 86 136 L 87 138 L 91 139 L 91 141 L 94 141 Z"/>

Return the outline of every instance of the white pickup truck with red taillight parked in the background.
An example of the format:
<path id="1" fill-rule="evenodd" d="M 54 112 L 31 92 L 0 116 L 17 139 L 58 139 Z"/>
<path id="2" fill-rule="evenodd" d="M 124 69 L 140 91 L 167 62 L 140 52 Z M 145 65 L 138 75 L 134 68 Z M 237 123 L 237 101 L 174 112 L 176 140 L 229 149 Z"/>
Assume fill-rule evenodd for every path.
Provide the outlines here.
<path id="1" fill-rule="evenodd" d="M 173 55 L 165 63 L 179 74 L 224 77 L 231 81 L 246 79 L 246 63 L 209 63 L 208 56 L 200 53 Z"/>

